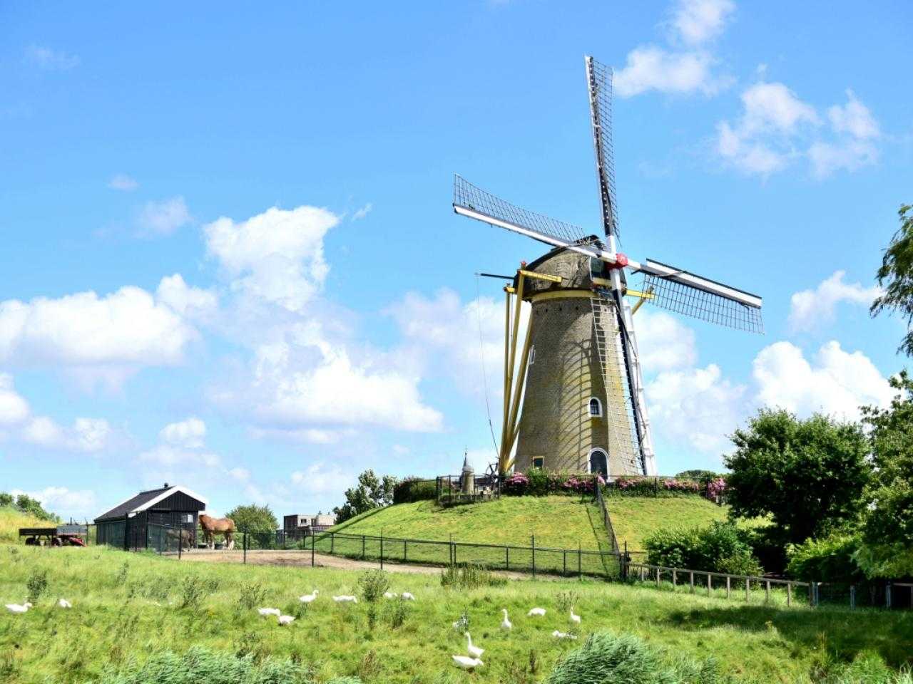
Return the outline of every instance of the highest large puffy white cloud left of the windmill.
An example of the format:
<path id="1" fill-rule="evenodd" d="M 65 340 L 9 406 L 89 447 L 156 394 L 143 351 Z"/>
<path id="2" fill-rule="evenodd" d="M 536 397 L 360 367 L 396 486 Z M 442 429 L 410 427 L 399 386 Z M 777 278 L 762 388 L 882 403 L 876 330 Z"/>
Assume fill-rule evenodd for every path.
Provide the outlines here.
<path id="1" fill-rule="evenodd" d="M 241 223 L 222 217 L 204 226 L 206 249 L 237 291 L 300 311 L 330 270 L 323 236 L 337 223 L 333 213 L 310 206 L 273 207 Z"/>

